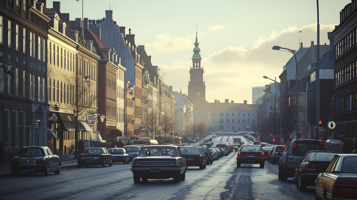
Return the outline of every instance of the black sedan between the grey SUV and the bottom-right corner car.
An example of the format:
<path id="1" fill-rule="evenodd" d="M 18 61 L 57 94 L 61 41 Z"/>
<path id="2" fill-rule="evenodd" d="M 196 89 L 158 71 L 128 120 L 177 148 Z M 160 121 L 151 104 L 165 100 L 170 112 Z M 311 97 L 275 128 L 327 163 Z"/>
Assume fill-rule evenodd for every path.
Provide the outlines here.
<path id="1" fill-rule="evenodd" d="M 319 171 L 325 172 L 338 151 L 308 151 L 296 168 L 296 187 L 303 191 L 306 186 L 315 186 Z"/>

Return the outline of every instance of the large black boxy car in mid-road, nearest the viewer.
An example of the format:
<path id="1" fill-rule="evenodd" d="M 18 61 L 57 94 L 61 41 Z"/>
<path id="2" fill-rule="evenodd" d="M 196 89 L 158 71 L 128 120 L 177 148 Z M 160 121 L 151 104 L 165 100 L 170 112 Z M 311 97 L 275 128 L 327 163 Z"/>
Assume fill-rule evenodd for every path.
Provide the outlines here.
<path id="1" fill-rule="evenodd" d="M 198 147 L 199 148 L 199 147 Z M 180 147 L 172 145 L 150 145 L 142 147 L 134 158 L 130 170 L 134 183 L 140 179 L 170 179 L 174 182 L 185 180 L 187 165 L 182 157 Z"/>

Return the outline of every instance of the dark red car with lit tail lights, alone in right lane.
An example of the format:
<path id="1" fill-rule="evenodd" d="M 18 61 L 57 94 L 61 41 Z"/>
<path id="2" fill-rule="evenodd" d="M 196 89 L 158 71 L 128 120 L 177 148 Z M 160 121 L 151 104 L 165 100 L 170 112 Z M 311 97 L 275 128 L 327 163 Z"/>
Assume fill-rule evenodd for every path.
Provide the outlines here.
<path id="1" fill-rule="evenodd" d="M 265 154 L 260 145 L 242 145 L 237 154 L 237 167 L 241 164 L 259 164 L 264 168 Z"/>

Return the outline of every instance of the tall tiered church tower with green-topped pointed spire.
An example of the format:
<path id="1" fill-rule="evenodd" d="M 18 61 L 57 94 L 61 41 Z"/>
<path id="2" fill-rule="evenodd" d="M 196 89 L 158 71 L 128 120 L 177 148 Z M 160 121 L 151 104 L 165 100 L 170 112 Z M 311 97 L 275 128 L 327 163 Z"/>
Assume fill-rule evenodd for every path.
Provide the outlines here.
<path id="1" fill-rule="evenodd" d="M 196 28 L 196 42 L 193 48 L 192 67 L 190 67 L 190 81 L 188 82 L 188 97 L 193 104 L 206 102 L 206 85 L 203 80 L 203 67 L 201 67 L 200 48 L 198 48 L 197 28 Z"/>

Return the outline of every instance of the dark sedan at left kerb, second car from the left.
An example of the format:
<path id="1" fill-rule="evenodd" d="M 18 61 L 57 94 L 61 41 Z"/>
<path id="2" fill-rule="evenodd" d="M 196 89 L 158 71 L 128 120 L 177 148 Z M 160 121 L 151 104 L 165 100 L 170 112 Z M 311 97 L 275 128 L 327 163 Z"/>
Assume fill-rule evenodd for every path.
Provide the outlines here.
<path id="1" fill-rule="evenodd" d="M 98 148 L 85 148 L 77 158 L 78 167 L 92 166 L 92 165 L 113 165 L 111 154 L 104 147 Z"/>

